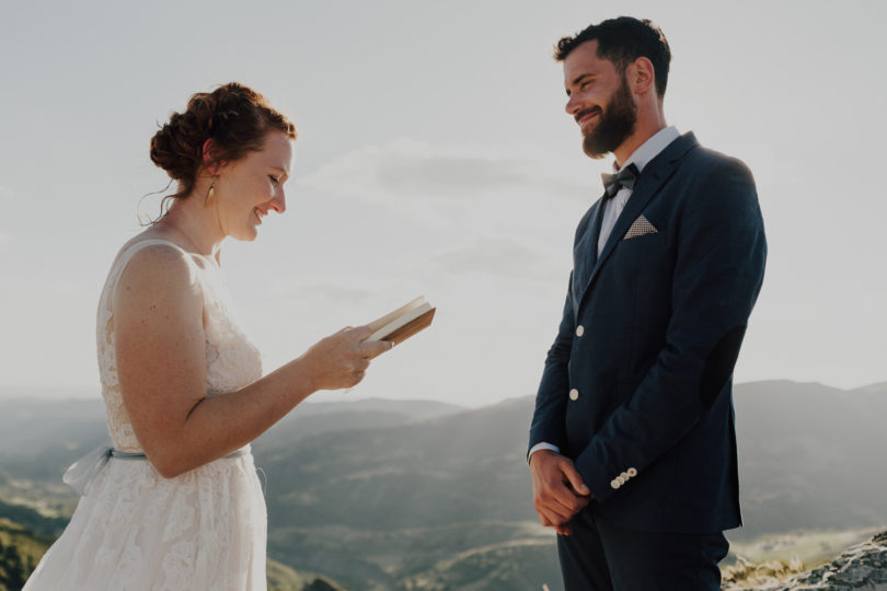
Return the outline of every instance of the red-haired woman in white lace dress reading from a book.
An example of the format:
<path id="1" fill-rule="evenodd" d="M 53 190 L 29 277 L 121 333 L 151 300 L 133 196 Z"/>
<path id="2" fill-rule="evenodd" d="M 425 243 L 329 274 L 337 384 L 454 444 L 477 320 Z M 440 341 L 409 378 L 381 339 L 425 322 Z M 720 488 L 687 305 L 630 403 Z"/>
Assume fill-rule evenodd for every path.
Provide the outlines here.
<path id="1" fill-rule="evenodd" d="M 69 470 L 84 496 L 25 590 L 265 589 L 250 442 L 311 393 L 357 384 L 391 347 L 345 328 L 263 378 L 229 313 L 221 244 L 284 212 L 295 139 L 261 94 L 229 83 L 192 96 L 151 140 L 177 192 L 120 250 L 99 303 L 114 448 Z"/>

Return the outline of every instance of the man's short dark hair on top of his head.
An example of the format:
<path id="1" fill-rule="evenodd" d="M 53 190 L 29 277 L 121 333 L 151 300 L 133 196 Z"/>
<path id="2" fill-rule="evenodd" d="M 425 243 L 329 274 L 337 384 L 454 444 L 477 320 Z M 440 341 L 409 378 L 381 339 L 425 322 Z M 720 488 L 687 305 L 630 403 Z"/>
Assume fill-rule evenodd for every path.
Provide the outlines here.
<path id="1" fill-rule="evenodd" d="M 620 16 L 589 25 L 576 35 L 558 40 L 554 59 L 563 61 L 576 47 L 595 39 L 598 42 L 598 57 L 612 61 L 620 74 L 625 73 L 625 68 L 635 59 L 647 58 L 656 73 L 656 93 L 660 99 L 665 96 L 671 49 L 665 33 L 653 21 Z"/>

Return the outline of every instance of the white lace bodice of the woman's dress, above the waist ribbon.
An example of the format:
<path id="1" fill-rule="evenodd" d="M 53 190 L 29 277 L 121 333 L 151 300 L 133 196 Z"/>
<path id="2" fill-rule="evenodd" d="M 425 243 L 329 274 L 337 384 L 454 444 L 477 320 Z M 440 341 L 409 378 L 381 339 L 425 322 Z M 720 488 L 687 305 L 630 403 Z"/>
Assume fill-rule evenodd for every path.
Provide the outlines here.
<path id="1" fill-rule="evenodd" d="M 105 401 L 107 428 L 114 447 L 141 451 L 123 404 L 114 336 L 113 296 L 117 281 L 134 254 L 141 248 L 175 248 L 194 269 L 204 294 L 206 335 L 207 394 L 231 392 L 262 376 L 262 357 L 233 321 L 228 287 L 221 269 L 209 259 L 189 254 L 165 240 L 141 240 L 124 246 L 108 273 L 99 300 L 96 343 L 102 397 Z"/>

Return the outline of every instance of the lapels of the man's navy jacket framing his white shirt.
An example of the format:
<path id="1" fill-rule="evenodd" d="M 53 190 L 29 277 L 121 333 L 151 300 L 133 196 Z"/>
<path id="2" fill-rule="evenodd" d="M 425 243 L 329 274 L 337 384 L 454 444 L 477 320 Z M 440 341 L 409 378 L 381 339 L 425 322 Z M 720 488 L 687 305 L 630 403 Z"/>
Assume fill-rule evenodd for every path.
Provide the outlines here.
<path id="1" fill-rule="evenodd" d="M 578 283 L 581 290 L 579 291 L 579 298 L 576 301 L 579 302 L 579 304 L 581 304 L 585 294 L 590 289 L 591 283 L 595 281 L 595 277 L 597 277 L 598 273 L 600 271 L 600 268 L 607 263 L 607 259 L 617 247 L 617 244 L 619 244 L 619 242 L 622 240 L 622 236 L 625 235 L 625 232 L 629 231 L 632 223 L 634 223 L 634 220 L 636 220 L 637 217 L 644 212 L 647 205 L 649 205 L 649 202 L 659 195 L 659 188 L 675 173 L 678 163 L 684 157 L 684 154 L 696 146 L 699 146 L 699 142 L 696 141 L 695 136 L 692 132 L 687 134 L 669 143 L 665 150 L 663 150 L 646 166 L 644 166 L 644 171 L 641 173 L 641 178 L 637 181 L 637 185 L 634 187 L 632 196 L 625 204 L 625 208 L 622 210 L 622 213 L 619 215 L 619 219 L 613 227 L 613 231 L 610 232 L 610 236 L 607 239 L 607 244 L 603 245 L 600 256 L 596 256 L 594 259 L 591 259 L 592 262 L 589 262 L 589 268 L 591 270 L 587 274 L 587 279 L 585 282 Z M 597 231 L 595 232 L 594 253 L 598 252 L 597 240 L 600 235 L 600 204 L 598 204 L 598 210 L 596 212 L 598 219 Z M 590 234 L 591 232 L 588 233 Z M 576 311 L 576 314 L 578 314 L 579 305 L 576 305 L 574 310 Z"/>

